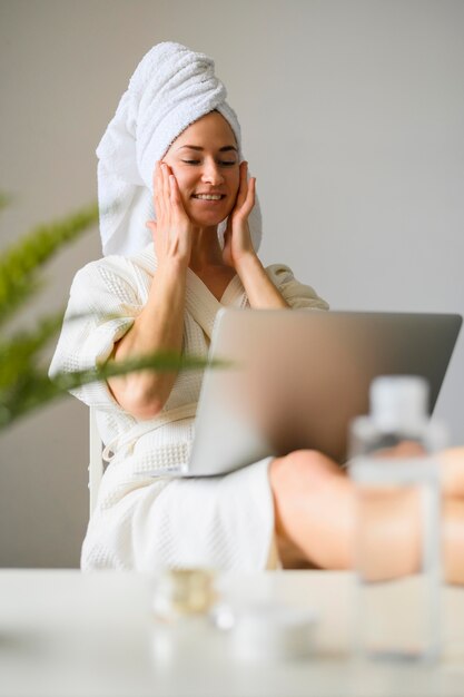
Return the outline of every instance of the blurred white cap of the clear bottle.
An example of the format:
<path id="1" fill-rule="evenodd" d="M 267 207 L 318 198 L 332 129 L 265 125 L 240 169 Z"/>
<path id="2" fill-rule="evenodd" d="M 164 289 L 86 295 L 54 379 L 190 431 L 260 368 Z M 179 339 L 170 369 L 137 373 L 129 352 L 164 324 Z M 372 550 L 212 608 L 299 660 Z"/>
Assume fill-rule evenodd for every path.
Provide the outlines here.
<path id="1" fill-rule="evenodd" d="M 371 415 L 383 430 L 417 429 L 427 420 L 428 385 L 416 375 L 382 375 L 371 384 Z"/>

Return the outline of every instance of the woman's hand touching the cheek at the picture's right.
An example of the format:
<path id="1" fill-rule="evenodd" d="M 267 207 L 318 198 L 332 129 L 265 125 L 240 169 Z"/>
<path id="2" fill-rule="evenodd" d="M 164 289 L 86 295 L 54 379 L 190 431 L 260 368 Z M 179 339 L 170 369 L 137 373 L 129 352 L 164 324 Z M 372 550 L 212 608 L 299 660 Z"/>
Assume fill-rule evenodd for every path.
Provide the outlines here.
<path id="1" fill-rule="evenodd" d="M 256 257 L 249 234 L 248 216 L 255 205 L 256 179 L 247 180 L 248 163 L 240 163 L 240 184 L 235 206 L 229 214 L 224 235 L 223 261 L 238 272 L 244 259 Z"/>

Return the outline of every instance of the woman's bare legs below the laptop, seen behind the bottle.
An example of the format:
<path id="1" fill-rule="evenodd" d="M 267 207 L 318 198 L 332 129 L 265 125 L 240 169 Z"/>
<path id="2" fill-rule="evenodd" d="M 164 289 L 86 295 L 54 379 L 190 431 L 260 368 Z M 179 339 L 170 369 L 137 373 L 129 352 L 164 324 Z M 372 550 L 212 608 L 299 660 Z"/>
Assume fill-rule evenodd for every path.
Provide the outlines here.
<path id="1" fill-rule="evenodd" d="M 464 449 L 445 452 L 443 459 L 443 559 L 447 582 L 464 583 Z M 335 462 L 322 453 L 300 450 L 277 458 L 269 470 L 274 494 L 276 536 L 284 568 L 324 569 L 353 567 L 355 489 Z M 453 492 L 452 495 L 448 495 Z M 417 563 L 418 534 L 415 521 L 417 497 L 395 498 L 395 520 L 401 533 L 384 549 L 392 573 L 411 573 Z M 391 511 L 379 512 L 385 530 Z M 402 522 L 403 521 L 403 522 Z M 306 563 L 304 563 L 306 560 Z"/>

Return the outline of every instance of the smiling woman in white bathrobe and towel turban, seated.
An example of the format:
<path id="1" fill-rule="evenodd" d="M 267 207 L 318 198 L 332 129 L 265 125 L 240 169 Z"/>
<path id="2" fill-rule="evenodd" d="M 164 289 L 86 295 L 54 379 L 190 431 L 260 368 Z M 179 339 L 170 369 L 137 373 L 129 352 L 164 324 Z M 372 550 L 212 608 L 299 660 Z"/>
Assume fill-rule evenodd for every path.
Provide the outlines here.
<path id="1" fill-rule="evenodd" d="M 155 351 L 206 355 L 221 305 L 327 308 L 288 267 L 265 269 L 257 256 L 255 179 L 213 66 L 161 43 L 132 76 L 97 150 L 103 251 L 117 254 L 77 274 L 52 373 Z M 352 483 L 320 453 L 221 478 L 164 477 L 188 460 L 200 382 L 144 371 L 76 391 L 98 409 L 110 461 L 82 568 L 349 568 Z M 405 559 L 413 543 L 406 536 Z"/>

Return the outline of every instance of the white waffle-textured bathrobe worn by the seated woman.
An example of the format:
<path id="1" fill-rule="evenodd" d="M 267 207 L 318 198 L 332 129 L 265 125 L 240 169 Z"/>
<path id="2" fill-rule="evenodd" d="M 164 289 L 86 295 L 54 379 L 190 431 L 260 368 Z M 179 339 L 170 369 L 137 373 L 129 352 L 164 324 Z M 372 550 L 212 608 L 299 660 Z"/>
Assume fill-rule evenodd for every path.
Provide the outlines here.
<path id="1" fill-rule="evenodd" d="M 287 266 L 275 264 L 266 272 L 292 307 L 327 308 Z M 152 244 L 135 257 L 107 256 L 80 269 L 50 374 L 105 363 L 147 303 L 155 273 Z M 206 357 L 216 313 L 225 305 L 249 307 L 238 276 L 219 303 L 187 269 L 185 352 Z M 162 477 L 188 461 L 201 377 L 201 371 L 179 372 L 161 414 L 150 421 L 128 414 L 105 382 L 73 392 L 97 409 L 110 460 L 82 546 L 82 569 L 256 571 L 279 566 L 268 481 L 272 458 L 213 479 Z"/>

